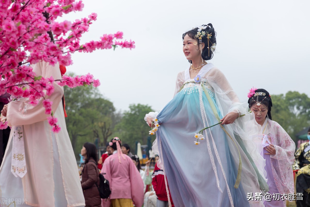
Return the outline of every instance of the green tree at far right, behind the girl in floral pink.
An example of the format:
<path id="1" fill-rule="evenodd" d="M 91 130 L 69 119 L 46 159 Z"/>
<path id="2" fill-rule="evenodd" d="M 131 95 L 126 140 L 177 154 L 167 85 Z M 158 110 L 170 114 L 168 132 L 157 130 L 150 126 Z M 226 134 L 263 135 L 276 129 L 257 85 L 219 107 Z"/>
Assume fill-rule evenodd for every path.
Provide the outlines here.
<path id="1" fill-rule="evenodd" d="M 278 122 L 295 140 L 295 134 L 310 125 L 310 98 L 296 91 L 272 95 L 272 120 Z"/>

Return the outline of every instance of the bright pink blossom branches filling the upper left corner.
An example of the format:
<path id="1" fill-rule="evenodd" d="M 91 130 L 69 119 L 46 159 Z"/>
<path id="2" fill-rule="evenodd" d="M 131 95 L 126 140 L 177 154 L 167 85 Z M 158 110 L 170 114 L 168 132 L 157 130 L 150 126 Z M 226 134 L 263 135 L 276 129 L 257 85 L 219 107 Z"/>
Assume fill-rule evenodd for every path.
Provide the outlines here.
<path id="1" fill-rule="evenodd" d="M 46 95 L 54 92 L 53 82 L 70 88 L 93 84 L 100 85 L 98 79 L 91 74 L 54 80 L 53 77 L 36 76 L 33 68 L 28 64 L 41 61 L 55 65 L 72 65 L 71 54 L 78 52 L 93 52 L 96 49 L 135 48 L 134 41 L 116 41 L 123 38 L 123 33 L 103 34 L 99 41 L 80 43 L 82 34 L 97 19 L 96 13 L 80 20 L 56 22 L 57 17 L 70 12 L 82 11 L 82 1 L 75 0 L 5 0 L 0 8 L 0 95 L 8 92 L 14 97 L 29 98 L 35 106 L 38 100 L 44 99 L 46 114 L 53 117 L 51 103 L 45 99 Z M 54 122 L 49 122 L 54 123 Z M 59 132 L 57 124 L 53 124 L 52 131 Z M 1 128 L 6 128 L 2 122 Z"/>

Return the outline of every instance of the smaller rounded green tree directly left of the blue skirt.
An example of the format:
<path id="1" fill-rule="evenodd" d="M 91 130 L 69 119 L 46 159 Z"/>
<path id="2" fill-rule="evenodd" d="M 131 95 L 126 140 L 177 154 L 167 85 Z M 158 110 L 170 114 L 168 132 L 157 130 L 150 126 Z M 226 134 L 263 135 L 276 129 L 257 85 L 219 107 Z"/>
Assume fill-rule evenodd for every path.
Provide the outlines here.
<path id="1" fill-rule="evenodd" d="M 148 105 L 131 104 L 129 111 L 124 112 L 122 120 L 115 126 L 115 133 L 112 137 L 121 138 L 122 143 L 129 144 L 134 153 L 136 141 L 147 144 L 150 127 L 145 123 L 144 116 L 150 111 L 154 110 Z M 155 136 L 152 138 L 155 140 Z"/>

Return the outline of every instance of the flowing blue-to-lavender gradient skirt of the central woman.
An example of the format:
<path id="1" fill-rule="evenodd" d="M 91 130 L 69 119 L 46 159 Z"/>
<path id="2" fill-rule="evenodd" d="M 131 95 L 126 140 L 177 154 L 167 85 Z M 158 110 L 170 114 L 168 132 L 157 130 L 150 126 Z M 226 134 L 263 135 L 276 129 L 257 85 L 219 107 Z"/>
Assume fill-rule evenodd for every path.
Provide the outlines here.
<path id="1" fill-rule="evenodd" d="M 234 188 L 238 170 L 228 147 L 229 137 L 221 126 L 216 125 L 210 131 L 207 129 L 208 137 L 204 131 L 210 147 L 206 139 L 199 140 L 200 145 L 194 144 L 197 141 L 194 133 L 204 128 L 205 119 L 202 118 L 198 90 L 198 86 L 183 88 L 157 115 L 160 124 L 156 132 L 157 144 L 173 203 L 178 207 L 228 207 L 232 203 L 234 206 L 250 206 L 241 183 Z M 213 92 L 208 92 L 217 115 L 223 117 Z M 205 123 L 211 126 L 219 121 L 209 101 L 202 92 Z"/>

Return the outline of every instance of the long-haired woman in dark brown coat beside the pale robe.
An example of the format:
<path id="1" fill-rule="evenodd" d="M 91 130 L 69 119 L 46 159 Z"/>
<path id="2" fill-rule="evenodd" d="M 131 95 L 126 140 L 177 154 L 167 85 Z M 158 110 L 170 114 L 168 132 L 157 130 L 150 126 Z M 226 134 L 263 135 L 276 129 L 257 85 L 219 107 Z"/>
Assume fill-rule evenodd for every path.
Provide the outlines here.
<path id="1" fill-rule="evenodd" d="M 86 207 L 100 207 L 101 198 L 97 188 L 100 184 L 100 180 L 99 170 L 97 168 L 96 146 L 86 142 L 81 150 L 81 155 L 85 156 L 81 183 Z"/>

